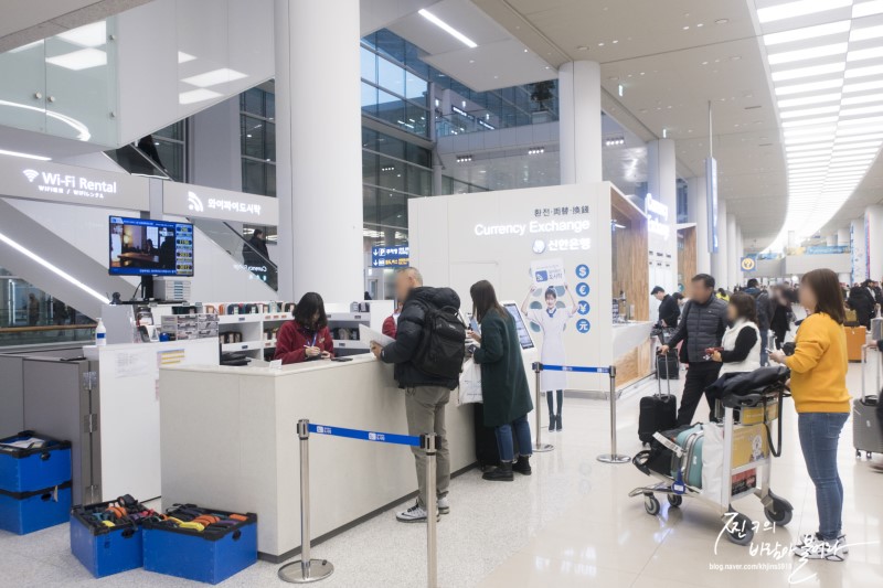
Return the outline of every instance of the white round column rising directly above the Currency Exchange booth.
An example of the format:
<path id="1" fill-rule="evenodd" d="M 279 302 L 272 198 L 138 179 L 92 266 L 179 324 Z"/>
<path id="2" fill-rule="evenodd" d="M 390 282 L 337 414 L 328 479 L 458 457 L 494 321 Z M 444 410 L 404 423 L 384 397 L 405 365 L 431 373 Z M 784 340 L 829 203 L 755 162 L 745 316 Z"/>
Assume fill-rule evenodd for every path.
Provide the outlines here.
<path id="1" fill-rule="evenodd" d="M 558 70 L 561 183 L 602 181 L 600 65 L 579 61 Z"/>

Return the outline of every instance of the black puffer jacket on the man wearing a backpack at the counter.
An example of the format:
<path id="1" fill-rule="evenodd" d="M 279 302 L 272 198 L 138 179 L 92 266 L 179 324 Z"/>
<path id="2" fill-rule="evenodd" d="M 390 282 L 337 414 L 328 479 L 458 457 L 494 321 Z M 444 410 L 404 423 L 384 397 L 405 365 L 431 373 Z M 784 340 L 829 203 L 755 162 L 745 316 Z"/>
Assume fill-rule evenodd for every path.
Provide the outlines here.
<path id="1" fill-rule="evenodd" d="M 395 343 L 383 348 L 380 359 L 384 363 L 395 364 L 395 379 L 398 387 L 412 386 L 447 386 L 454 389 L 459 385 L 457 378 L 425 374 L 412 363 L 412 357 L 423 339 L 423 324 L 426 317 L 426 306 L 436 308 L 460 308 L 460 297 L 450 288 L 429 288 L 421 286 L 411 290 L 402 313 L 398 316 L 398 325 L 395 332 Z"/>

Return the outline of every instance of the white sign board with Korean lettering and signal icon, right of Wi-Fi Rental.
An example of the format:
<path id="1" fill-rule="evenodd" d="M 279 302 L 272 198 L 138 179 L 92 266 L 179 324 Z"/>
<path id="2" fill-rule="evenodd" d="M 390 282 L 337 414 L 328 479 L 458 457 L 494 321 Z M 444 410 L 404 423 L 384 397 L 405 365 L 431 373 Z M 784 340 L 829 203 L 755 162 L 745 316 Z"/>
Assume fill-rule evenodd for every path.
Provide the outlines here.
<path id="1" fill-rule="evenodd" d="M 253 225 L 279 224 L 279 201 L 274 197 L 173 182 L 163 183 L 162 212 Z"/>

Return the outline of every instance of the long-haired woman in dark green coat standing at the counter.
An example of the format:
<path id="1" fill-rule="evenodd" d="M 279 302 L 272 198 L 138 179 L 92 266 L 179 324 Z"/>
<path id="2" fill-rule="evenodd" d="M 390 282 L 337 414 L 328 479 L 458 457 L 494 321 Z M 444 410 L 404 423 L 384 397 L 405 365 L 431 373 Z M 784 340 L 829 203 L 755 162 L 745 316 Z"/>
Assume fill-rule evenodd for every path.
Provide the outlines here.
<path id="1" fill-rule="evenodd" d="M 472 316 L 481 333 L 469 335 L 481 346 L 471 349 L 472 359 L 481 365 L 481 395 L 485 404 L 485 426 L 493 427 L 501 466 L 486 472 L 485 480 L 512 481 L 512 472 L 531 473 L 531 427 L 528 413 L 533 410 L 528 376 L 521 360 L 515 321 L 497 301 L 497 292 L 487 280 L 472 285 Z M 519 457 L 512 442 L 518 439 Z"/>

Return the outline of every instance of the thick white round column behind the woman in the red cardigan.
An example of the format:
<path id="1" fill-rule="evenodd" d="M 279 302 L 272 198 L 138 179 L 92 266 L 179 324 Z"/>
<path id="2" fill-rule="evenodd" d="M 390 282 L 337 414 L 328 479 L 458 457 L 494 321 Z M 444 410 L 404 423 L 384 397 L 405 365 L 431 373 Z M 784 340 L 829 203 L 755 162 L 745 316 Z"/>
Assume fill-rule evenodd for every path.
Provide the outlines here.
<path id="1" fill-rule="evenodd" d="M 279 296 L 361 300 L 359 0 L 276 0 L 275 21 Z"/>

